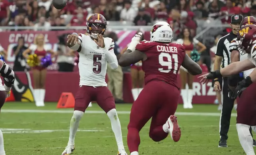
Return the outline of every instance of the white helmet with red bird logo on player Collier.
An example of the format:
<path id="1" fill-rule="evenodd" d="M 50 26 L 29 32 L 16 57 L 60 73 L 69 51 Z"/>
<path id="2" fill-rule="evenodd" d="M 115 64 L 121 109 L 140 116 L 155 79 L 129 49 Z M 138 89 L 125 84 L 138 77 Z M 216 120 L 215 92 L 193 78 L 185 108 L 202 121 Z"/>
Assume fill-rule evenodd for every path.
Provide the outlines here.
<path id="1" fill-rule="evenodd" d="M 157 22 L 150 31 L 151 42 L 171 42 L 173 30 L 167 22 Z"/>

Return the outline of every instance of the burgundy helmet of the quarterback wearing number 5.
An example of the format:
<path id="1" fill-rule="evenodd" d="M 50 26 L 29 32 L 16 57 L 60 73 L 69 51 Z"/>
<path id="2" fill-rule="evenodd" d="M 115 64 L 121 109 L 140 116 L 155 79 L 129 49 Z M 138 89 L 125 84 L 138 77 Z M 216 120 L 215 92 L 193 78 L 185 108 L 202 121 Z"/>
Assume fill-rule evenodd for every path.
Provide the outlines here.
<path id="1" fill-rule="evenodd" d="M 107 20 L 103 15 L 95 13 L 88 18 L 86 25 L 87 33 L 89 36 L 97 39 L 98 33 L 101 35 L 105 34 L 107 28 Z"/>

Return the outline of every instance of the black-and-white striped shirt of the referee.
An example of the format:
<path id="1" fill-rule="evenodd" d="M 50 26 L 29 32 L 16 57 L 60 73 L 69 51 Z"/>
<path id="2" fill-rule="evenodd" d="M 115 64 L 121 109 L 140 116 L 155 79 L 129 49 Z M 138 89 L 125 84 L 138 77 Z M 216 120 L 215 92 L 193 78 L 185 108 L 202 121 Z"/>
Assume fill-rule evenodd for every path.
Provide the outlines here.
<path id="1" fill-rule="evenodd" d="M 215 55 L 222 57 L 222 64 L 221 64 L 222 68 L 230 64 L 231 52 L 229 51 L 229 46 L 231 41 L 236 37 L 237 37 L 236 34 L 233 34 L 233 32 L 230 32 L 226 36 L 223 36 L 222 38 L 220 38 L 217 43 L 217 50 L 215 52 Z"/>

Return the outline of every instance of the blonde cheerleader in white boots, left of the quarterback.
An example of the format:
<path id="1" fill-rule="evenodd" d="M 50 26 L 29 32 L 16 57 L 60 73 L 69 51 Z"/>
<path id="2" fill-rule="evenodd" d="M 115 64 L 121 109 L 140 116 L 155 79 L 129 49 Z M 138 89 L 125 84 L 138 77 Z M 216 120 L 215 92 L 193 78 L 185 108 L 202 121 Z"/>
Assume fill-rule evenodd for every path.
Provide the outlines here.
<path id="1" fill-rule="evenodd" d="M 45 79 L 47 74 L 47 68 L 41 66 L 40 62 L 47 53 L 51 54 L 51 57 L 54 57 L 55 53 L 45 45 L 45 36 L 43 34 L 38 34 L 34 40 L 34 45 L 30 45 L 22 55 L 24 58 L 28 59 L 28 54 L 36 54 L 38 58 L 39 65 L 32 67 L 31 71 L 33 74 L 34 81 L 34 98 L 36 106 L 45 106 Z"/>

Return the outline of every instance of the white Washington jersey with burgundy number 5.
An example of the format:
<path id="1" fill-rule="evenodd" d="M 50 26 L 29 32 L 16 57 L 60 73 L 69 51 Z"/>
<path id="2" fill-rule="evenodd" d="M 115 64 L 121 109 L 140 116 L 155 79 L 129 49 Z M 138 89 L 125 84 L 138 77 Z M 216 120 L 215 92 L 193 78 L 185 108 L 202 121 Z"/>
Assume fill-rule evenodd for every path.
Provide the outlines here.
<path id="1" fill-rule="evenodd" d="M 78 34 L 81 49 L 79 52 L 80 85 L 93 87 L 107 86 L 105 76 L 107 72 L 107 57 L 104 50 L 114 55 L 114 41 L 104 38 L 105 48 L 99 47 L 90 36 Z M 113 56 L 117 62 L 116 56 Z"/>

